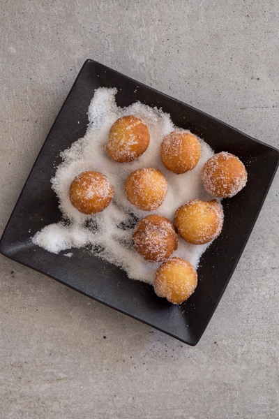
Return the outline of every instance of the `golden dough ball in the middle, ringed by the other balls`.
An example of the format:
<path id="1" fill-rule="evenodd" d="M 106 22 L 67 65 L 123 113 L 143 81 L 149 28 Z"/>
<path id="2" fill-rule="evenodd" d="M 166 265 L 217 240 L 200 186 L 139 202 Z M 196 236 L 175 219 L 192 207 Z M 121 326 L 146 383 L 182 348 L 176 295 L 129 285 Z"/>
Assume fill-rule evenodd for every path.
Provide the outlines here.
<path id="1" fill-rule="evenodd" d="M 141 168 L 130 173 L 125 183 L 128 201 L 144 211 L 160 207 L 167 194 L 167 180 L 160 170 Z"/>

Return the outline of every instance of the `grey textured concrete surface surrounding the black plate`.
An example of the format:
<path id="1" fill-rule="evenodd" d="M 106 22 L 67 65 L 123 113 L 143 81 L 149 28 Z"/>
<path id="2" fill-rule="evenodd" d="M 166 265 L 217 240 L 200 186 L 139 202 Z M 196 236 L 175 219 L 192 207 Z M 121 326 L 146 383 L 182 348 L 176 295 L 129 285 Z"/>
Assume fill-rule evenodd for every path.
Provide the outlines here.
<path id="1" fill-rule="evenodd" d="M 277 0 L 0 6 L 1 231 L 87 58 L 279 147 Z M 0 417 L 278 418 L 278 188 L 195 347 L 1 256 Z"/>

